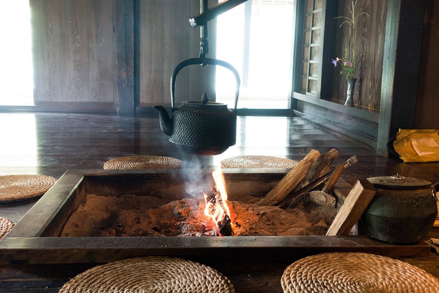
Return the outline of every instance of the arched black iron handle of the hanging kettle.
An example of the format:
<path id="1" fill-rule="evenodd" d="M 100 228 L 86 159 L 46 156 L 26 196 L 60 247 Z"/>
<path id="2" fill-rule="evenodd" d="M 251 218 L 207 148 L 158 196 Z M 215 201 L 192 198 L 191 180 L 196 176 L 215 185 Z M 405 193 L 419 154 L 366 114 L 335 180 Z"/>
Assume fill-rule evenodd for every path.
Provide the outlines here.
<path id="1" fill-rule="evenodd" d="M 174 107 L 174 101 L 175 101 L 175 79 L 177 77 L 177 74 L 184 67 L 186 67 L 188 65 L 195 65 L 195 64 L 198 64 L 198 65 L 201 65 L 201 66 L 206 66 L 206 65 L 219 65 L 219 66 L 223 66 L 223 67 L 227 68 L 228 70 L 230 70 L 234 74 L 235 80 L 236 80 L 234 112 L 236 112 L 236 106 L 237 106 L 237 103 L 238 103 L 238 96 L 239 96 L 239 88 L 241 86 L 241 79 L 239 78 L 239 73 L 233 67 L 233 65 L 231 65 L 229 62 L 226 62 L 226 61 L 223 61 L 223 60 L 220 60 L 220 59 L 215 59 L 215 58 L 191 58 L 191 59 L 186 59 L 186 60 L 180 62 L 175 67 L 174 71 L 172 72 L 172 76 L 171 76 L 171 111 L 175 110 L 175 107 Z"/>

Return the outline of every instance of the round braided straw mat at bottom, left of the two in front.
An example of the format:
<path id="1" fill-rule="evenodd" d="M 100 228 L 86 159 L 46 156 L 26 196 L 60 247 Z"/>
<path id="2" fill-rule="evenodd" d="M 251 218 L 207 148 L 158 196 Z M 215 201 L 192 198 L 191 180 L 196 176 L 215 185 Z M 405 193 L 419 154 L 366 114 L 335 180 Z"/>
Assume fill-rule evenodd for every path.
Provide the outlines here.
<path id="1" fill-rule="evenodd" d="M 60 293 L 234 293 L 230 281 L 211 267 L 165 256 L 136 257 L 93 267 L 68 281 Z"/>

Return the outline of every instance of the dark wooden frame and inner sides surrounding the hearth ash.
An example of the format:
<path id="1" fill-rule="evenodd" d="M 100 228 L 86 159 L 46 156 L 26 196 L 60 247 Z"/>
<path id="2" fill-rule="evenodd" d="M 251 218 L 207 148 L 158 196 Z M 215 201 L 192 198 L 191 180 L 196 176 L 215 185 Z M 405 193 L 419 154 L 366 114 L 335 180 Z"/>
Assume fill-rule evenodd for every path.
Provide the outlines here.
<path id="1" fill-rule="evenodd" d="M 0 264 L 104 263 L 135 256 L 202 260 L 215 255 L 225 259 L 297 260 L 324 252 L 365 252 L 390 257 L 428 256 L 430 253 L 430 246 L 424 241 L 412 245 L 391 245 L 367 235 L 58 237 L 68 217 L 84 202 L 87 193 L 148 192 L 167 197 L 176 194 L 179 186 L 183 188 L 184 181 L 188 180 L 187 176 L 194 176 L 198 171 L 68 170 L 0 241 Z M 212 171 L 203 170 L 198 178 L 210 180 Z M 234 192 L 259 192 L 263 196 L 288 171 L 271 168 L 224 169 L 229 199 L 233 200 Z M 164 188 L 164 183 L 168 188 Z M 341 179 L 334 191 L 340 206 L 350 186 Z M 184 191 L 181 193 L 184 194 Z"/>

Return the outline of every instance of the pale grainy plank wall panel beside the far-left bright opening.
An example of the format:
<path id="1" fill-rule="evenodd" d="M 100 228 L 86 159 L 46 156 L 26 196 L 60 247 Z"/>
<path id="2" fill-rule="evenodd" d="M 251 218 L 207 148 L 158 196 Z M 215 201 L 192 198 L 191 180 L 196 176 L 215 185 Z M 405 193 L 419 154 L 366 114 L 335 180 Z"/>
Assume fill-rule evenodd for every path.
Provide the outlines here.
<path id="1" fill-rule="evenodd" d="M 29 5 L 35 104 L 114 104 L 115 0 L 29 0 Z"/>

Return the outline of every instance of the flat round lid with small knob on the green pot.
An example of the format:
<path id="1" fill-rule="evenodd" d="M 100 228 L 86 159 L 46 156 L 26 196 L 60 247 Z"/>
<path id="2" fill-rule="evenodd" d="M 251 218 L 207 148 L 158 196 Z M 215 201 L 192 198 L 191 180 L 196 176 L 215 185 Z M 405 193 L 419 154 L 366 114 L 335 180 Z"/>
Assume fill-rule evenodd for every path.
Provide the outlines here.
<path id="1" fill-rule="evenodd" d="M 378 176 L 367 178 L 374 187 L 386 189 L 423 189 L 429 188 L 432 184 L 429 181 L 400 176 Z"/>

